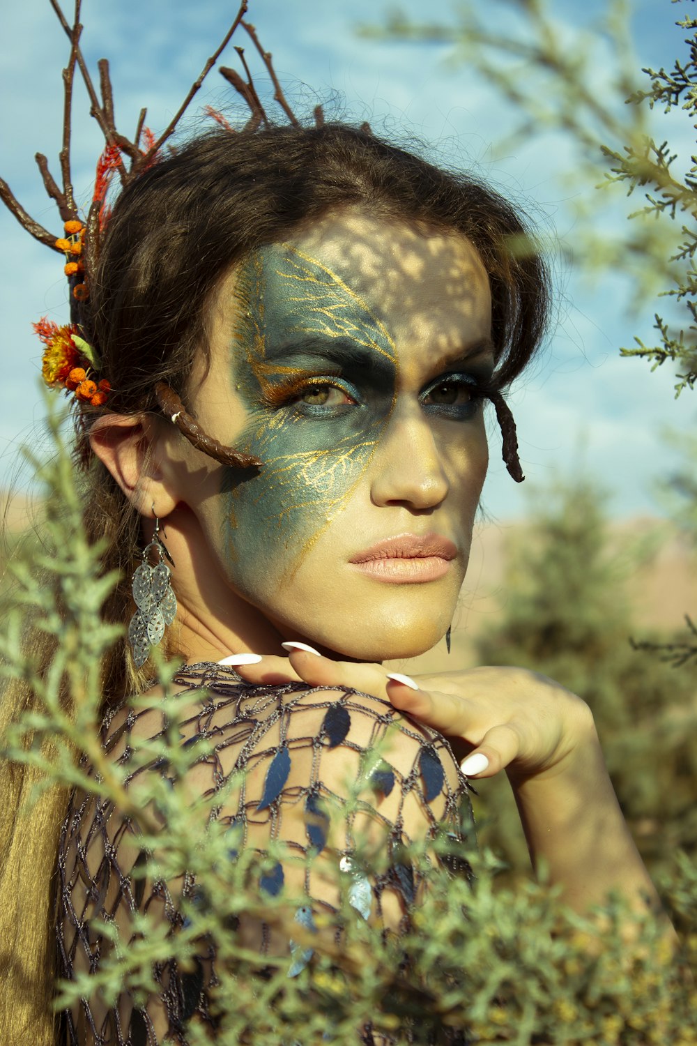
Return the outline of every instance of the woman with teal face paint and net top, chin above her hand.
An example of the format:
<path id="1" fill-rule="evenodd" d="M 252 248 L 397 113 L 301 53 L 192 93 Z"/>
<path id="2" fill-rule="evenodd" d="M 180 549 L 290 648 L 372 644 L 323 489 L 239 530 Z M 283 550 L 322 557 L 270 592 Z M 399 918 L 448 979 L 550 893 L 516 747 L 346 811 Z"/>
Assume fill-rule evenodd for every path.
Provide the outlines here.
<path id="1" fill-rule="evenodd" d="M 183 658 L 177 683 L 191 693 L 183 743 L 214 745 L 193 788 L 247 772 L 218 813 L 245 845 L 280 838 L 350 866 L 354 825 L 329 845 L 322 801 L 342 800 L 347 771 L 396 724 L 364 823 L 386 846 L 429 839 L 443 821 L 462 833 L 466 779 L 505 769 L 533 864 L 544 860 L 572 905 L 612 889 L 653 902 L 579 698 L 522 669 L 414 681 L 379 664 L 449 627 L 487 468 L 486 399 L 521 478 L 501 390 L 535 351 L 547 300 L 541 262 L 510 248 L 524 234 L 490 189 L 342 124 L 217 131 L 131 181 L 77 294 L 72 344 L 91 373 L 66 378 L 90 476 L 86 526 L 107 536 L 104 568 L 122 575 L 106 613 L 132 621 L 133 649 L 123 640 L 104 666 L 104 743 L 125 763 L 134 736 L 161 729 L 123 702 L 152 685 L 162 615 L 163 649 Z M 142 591 L 134 581 L 138 563 L 165 554 L 176 614 L 166 572 L 156 592 L 149 574 Z M 61 975 L 91 961 L 104 911 L 127 929 L 134 908 L 164 915 L 190 891 L 136 890 L 138 856 L 117 810 L 73 797 L 59 844 Z M 281 882 L 305 889 L 308 910 L 332 909 L 320 879 L 279 867 L 261 885 Z M 368 890 L 362 914 L 398 928 L 413 882 L 391 866 Z M 50 969 L 42 919 L 32 961 Z M 286 947 L 268 928 L 242 932 L 270 954 Z M 188 991 L 160 971 L 142 1007 L 86 1001 L 65 1015 L 68 1041 L 185 1042 L 194 1014 L 211 1019 L 214 965 L 203 956 Z M 18 963 L 25 987 L 27 969 Z M 23 993 L 37 1042 L 51 1034 L 50 979 Z"/>

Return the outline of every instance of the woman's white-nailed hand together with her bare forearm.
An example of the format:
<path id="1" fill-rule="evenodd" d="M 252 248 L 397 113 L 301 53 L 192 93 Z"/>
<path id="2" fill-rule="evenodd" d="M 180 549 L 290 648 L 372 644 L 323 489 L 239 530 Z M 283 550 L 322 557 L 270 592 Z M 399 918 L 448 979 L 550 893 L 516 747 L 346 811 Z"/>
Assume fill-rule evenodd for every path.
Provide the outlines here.
<path id="1" fill-rule="evenodd" d="M 296 680 L 387 698 L 444 734 L 456 755 L 466 756 L 466 776 L 492 777 L 506 769 L 533 866 L 543 862 L 549 881 L 562 886 L 568 904 L 586 911 L 617 890 L 640 907 L 647 902 L 658 907 L 607 774 L 593 715 L 580 698 L 525 668 L 391 679 L 378 664 L 332 661 L 311 647 L 286 649 L 287 660 L 263 657 L 237 670 L 255 683 Z"/>

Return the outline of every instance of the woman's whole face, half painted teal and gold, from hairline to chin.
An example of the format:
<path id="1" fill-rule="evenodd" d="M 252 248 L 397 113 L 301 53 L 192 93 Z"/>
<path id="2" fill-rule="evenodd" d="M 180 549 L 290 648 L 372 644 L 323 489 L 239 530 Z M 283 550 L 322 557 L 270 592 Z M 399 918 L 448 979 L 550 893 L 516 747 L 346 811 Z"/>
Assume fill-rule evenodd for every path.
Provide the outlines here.
<path id="1" fill-rule="evenodd" d="M 192 474 L 187 500 L 249 613 L 362 660 L 442 637 L 487 468 L 490 325 L 467 240 L 361 210 L 235 269 L 192 406 L 262 464 Z"/>

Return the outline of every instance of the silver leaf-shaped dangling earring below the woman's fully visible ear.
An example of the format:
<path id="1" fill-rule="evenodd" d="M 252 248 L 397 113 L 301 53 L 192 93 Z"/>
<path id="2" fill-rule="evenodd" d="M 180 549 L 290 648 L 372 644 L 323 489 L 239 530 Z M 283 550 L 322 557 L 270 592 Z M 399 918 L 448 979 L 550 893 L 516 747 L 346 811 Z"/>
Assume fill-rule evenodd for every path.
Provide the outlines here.
<path id="1" fill-rule="evenodd" d="M 154 566 L 148 562 L 150 554 L 155 558 Z M 133 575 L 133 601 L 138 610 L 129 624 L 129 642 L 136 668 L 145 664 L 150 646 L 158 645 L 165 624 L 171 624 L 177 615 L 177 596 L 169 584 L 171 571 L 163 555 L 173 567 L 175 561 L 160 538 L 160 520 L 155 516 L 153 540 L 143 549 L 143 562 Z"/>

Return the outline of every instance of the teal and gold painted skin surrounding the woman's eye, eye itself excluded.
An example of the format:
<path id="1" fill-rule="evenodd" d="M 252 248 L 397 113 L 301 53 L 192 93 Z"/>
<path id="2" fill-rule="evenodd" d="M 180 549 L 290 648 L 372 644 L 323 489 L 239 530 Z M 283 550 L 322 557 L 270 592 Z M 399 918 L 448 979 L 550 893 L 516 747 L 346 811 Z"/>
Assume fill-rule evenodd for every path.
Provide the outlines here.
<path id="1" fill-rule="evenodd" d="M 234 381 L 250 420 L 236 445 L 263 464 L 252 478 L 226 473 L 220 522 L 231 574 L 251 593 L 287 581 L 359 484 L 390 416 L 396 370 L 382 324 L 321 263 L 291 247 L 253 255 L 241 267 L 237 296 Z M 350 336 L 389 368 L 390 390 L 333 414 L 265 405 L 292 370 L 270 351 L 288 336 Z"/>

